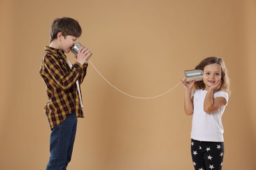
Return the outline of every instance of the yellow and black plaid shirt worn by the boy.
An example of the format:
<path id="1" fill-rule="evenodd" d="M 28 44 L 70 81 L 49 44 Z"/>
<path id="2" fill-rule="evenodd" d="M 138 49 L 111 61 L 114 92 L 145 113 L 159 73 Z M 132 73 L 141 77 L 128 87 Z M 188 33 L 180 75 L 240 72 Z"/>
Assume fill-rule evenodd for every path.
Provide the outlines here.
<path id="1" fill-rule="evenodd" d="M 46 85 L 49 102 L 44 110 L 51 129 L 73 112 L 79 118 L 84 117 L 75 81 L 78 80 L 79 84 L 83 82 L 87 66 L 88 64 L 75 62 L 70 69 L 63 50 L 45 46 L 39 73 Z"/>

